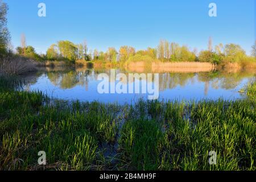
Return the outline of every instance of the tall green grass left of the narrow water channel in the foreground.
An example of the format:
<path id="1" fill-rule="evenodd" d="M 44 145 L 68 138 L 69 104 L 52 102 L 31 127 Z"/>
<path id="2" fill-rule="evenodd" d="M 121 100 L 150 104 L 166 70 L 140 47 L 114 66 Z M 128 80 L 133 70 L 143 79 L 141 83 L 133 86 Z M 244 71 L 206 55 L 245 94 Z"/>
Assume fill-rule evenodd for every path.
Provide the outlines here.
<path id="1" fill-rule="evenodd" d="M 4 82 L 3 82 L 4 83 Z M 98 102 L 48 102 L 42 93 L 0 91 L 0 169 L 96 169 L 101 143 L 114 141 L 117 123 Z"/>

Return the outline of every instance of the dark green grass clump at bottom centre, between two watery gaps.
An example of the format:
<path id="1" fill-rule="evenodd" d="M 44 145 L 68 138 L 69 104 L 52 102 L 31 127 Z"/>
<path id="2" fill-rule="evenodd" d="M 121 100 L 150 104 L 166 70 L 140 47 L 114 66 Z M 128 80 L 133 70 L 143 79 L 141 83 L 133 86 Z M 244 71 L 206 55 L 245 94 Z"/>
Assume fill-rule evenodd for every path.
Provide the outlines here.
<path id="1" fill-rule="evenodd" d="M 158 168 L 163 133 L 154 120 L 127 121 L 119 139 L 122 160 L 128 169 L 154 170 Z"/>

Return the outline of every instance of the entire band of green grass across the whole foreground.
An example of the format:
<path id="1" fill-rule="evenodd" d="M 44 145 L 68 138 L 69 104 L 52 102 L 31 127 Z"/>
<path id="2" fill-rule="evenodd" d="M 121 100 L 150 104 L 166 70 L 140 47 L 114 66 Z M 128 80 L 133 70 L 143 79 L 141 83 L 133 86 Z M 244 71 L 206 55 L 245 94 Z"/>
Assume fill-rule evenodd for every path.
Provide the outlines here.
<path id="1" fill-rule="evenodd" d="M 237 101 L 131 106 L 52 100 L 17 85 L 0 78 L 0 170 L 256 169 L 255 84 Z"/>

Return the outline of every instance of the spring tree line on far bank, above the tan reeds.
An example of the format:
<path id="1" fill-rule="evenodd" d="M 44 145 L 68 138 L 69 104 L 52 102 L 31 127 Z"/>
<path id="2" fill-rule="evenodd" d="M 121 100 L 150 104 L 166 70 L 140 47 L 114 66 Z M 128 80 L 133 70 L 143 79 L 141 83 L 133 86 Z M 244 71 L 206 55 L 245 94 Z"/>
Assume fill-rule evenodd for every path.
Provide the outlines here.
<path id="1" fill-rule="evenodd" d="M 35 60 L 84 60 L 84 61 L 127 61 L 127 60 L 161 60 L 161 61 L 201 61 L 213 64 L 220 64 L 222 61 L 236 63 L 240 60 L 255 61 L 255 46 L 252 47 L 251 56 L 247 56 L 246 52 L 238 44 L 218 44 L 213 48 L 212 38 L 209 38 L 208 49 L 197 52 L 192 51 L 187 46 L 180 46 L 174 42 L 160 40 L 158 47 L 148 47 L 146 50 L 136 51 L 134 47 L 122 46 L 118 50 L 109 47 L 106 52 L 88 51 L 86 41 L 80 44 L 74 44 L 68 40 L 61 40 L 56 44 L 52 44 L 45 55 L 38 55 L 31 46 L 26 46 L 26 38 L 22 35 L 21 46 L 16 48 L 16 53 L 27 56 Z"/>

